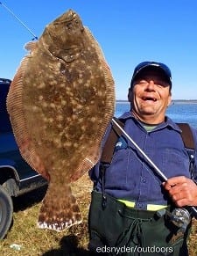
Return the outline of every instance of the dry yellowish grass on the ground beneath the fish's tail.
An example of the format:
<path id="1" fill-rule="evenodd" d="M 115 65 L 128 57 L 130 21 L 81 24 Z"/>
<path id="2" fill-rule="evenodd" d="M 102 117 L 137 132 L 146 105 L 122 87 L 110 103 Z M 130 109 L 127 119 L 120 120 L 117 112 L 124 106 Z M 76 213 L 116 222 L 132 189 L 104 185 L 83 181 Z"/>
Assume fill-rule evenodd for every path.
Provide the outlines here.
<path id="1" fill-rule="evenodd" d="M 63 232 L 40 230 L 36 223 L 41 200 L 46 188 L 25 194 L 14 200 L 14 216 L 11 230 L 0 242 L 1 256 L 88 256 L 88 207 L 92 183 L 84 175 L 72 186 L 76 195 L 83 223 Z M 11 245 L 19 245 L 11 248 Z M 193 222 L 188 242 L 191 256 L 197 255 L 197 222 Z"/>

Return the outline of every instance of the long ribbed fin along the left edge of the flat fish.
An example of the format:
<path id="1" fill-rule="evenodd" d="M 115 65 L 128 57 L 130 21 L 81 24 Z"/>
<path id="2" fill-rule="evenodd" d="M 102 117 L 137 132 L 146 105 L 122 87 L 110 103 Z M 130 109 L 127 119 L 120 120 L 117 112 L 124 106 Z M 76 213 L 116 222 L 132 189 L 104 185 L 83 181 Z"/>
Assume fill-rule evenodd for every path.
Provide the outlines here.
<path id="1" fill-rule="evenodd" d="M 25 159 L 28 165 L 35 171 L 39 172 L 47 180 L 50 179 L 49 173 L 43 165 L 34 143 L 32 142 L 29 131 L 26 125 L 24 105 L 23 105 L 23 77 L 28 62 L 28 57 L 25 57 L 21 62 L 17 74 L 11 82 L 11 87 L 7 96 L 7 110 L 10 114 L 11 126 L 15 135 L 18 149 L 21 156 Z"/>

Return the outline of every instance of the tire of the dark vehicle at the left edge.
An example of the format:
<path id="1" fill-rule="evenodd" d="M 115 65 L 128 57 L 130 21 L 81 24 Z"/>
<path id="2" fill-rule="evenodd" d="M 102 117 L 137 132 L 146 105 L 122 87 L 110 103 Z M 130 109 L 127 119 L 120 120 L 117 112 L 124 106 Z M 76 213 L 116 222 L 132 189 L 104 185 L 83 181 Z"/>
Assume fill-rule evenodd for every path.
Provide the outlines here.
<path id="1" fill-rule="evenodd" d="M 11 227 L 13 203 L 11 196 L 0 186 L 0 239 L 3 239 Z"/>

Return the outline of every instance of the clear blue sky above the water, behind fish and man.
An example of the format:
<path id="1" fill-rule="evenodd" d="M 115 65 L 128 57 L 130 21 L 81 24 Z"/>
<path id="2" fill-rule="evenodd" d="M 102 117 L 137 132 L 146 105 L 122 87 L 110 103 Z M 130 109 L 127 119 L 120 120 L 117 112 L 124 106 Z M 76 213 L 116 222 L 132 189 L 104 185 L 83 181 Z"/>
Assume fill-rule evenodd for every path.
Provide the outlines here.
<path id="1" fill-rule="evenodd" d="M 197 99 L 196 0 L 3 0 L 38 37 L 53 19 L 76 11 L 94 34 L 116 83 L 127 99 L 138 62 L 165 62 L 172 69 L 172 99 Z M 13 78 L 25 43 L 33 36 L 0 4 L 0 77 Z"/>

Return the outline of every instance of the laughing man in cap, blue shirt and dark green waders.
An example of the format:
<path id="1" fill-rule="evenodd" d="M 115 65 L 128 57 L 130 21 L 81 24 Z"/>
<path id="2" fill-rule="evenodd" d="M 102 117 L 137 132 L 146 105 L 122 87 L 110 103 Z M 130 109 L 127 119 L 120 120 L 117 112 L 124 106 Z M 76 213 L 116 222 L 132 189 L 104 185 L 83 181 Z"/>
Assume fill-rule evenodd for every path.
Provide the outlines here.
<path id="1" fill-rule="evenodd" d="M 106 255 L 188 255 L 190 216 L 185 208 L 175 216 L 173 210 L 197 206 L 197 186 L 191 179 L 181 130 L 165 116 L 171 91 L 172 75 L 165 64 L 142 62 L 134 69 L 128 94 L 130 112 L 123 113 L 120 119 L 127 135 L 167 181 L 121 135 L 111 163 L 100 161 L 89 172 L 94 181 L 89 211 L 90 250 Z M 192 131 L 196 145 L 197 131 Z M 193 168 L 196 179 L 196 165 Z M 184 216 L 186 224 L 179 222 L 179 215 Z"/>

